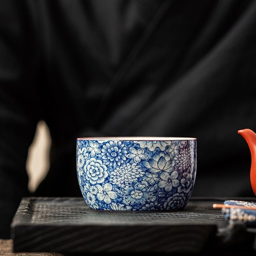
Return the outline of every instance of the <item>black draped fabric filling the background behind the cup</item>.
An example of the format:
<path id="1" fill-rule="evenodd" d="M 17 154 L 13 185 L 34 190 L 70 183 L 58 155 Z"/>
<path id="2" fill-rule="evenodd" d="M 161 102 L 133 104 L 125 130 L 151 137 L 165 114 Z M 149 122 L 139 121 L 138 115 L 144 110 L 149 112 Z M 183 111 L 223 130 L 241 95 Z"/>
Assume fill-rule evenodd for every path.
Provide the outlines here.
<path id="1" fill-rule="evenodd" d="M 0 237 L 28 195 L 39 120 L 51 169 L 36 196 L 81 196 L 82 136 L 198 138 L 194 196 L 252 196 L 256 1 L 1 1 Z"/>

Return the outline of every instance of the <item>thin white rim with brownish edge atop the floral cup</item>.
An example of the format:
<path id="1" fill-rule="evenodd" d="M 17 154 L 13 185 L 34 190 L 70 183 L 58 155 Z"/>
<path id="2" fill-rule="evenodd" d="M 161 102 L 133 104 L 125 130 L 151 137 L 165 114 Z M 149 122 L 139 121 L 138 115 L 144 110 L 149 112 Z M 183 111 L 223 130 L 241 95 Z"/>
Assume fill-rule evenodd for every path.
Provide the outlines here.
<path id="1" fill-rule="evenodd" d="M 182 140 L 197 140 L 197 138 L 189 137 L 84 137 L 76 140 L 120 140 L 120 141 L 182 141 Z"/>

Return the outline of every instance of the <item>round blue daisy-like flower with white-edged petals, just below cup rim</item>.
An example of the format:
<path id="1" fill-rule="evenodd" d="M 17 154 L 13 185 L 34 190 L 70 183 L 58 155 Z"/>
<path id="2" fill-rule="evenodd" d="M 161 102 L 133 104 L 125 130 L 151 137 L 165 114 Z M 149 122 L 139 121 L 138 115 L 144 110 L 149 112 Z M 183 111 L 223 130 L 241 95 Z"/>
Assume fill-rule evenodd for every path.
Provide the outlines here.
<path id="1" fill-rule="evenodd" d="M 126 160 L 126 146 L 121 141 L 110 141 L 102 145 L 101 155 L 106 165 L 121 165 Z"/>

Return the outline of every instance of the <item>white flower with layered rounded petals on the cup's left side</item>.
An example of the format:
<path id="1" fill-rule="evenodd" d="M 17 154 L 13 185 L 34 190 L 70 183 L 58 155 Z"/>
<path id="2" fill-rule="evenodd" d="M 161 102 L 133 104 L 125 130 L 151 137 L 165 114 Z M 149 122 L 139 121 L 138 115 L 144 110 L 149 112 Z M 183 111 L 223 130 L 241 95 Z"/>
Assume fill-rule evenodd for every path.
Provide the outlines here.
<path id="1" fill-rule="evenodd" d="M 86 173 L 86 179 L 90 181 L 91 184 L 103 183 L 105 178 L 108 176 L 106 166 L 103 165 L 101 160 L 96 160 L 94 157 L 86 161 L 84 170 Z"/>

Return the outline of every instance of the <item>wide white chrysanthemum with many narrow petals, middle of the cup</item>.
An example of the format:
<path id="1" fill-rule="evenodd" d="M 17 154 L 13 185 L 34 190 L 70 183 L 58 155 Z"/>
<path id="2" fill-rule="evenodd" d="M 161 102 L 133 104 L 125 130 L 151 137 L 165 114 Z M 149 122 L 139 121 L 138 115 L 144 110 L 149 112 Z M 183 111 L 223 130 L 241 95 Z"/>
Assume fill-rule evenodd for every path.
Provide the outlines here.
<path id="1" fill-rule="evenodd" d="M 119 187 L 124 183 L 131 184 L 137 182 L 138 178 L 145 174 L 140 168 L 136 163 L 132 165 L 130 163 L 124 163 L 123 166 L 116 167 L 114 171 L 110 172 L 109 181 Z"/>

